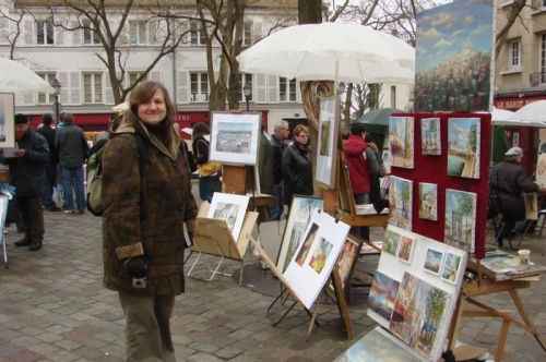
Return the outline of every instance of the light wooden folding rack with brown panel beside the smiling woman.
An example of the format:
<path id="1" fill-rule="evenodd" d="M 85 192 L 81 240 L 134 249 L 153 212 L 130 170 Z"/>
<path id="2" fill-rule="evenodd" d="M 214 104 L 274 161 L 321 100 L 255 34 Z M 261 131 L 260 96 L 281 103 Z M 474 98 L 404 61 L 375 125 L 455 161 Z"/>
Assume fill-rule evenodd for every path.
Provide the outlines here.
<path id="1" fill-rule="evenodd" d="M 207 215 L 209 208 L 210 204 L 205 202 L 199 209 L 199 215 L 197 218 L 198 228 L 195 233 L 193 234 L 193 245 L 189 248 L 190 254 L 188 255 L 187 261 L 193 253 L 197 253 L 198 256 L 188 270 L 188 277 L 195 278 L 191 274 L 203 254 L 216 255 L 219 256 L 219 261 L 213 267 L 206 264 L 209 272 L 211 272 L 211 276 L 204 280 L 211 281 L 216 275 L 230 277 L 230 274 L 219 272 L 224 260 L 230 258 L 240 262 L 240 286 L 242 285 L 242 276 L 245 270 L 244 256 L 251 239 L 250 233 L 252 232 L 256 220 L 258 219 L 258 213 L 247 213 L 242 222 L 241 231 L 239 233 L 239 239 L 235 241 L 225 220 L 210 219 L 204 217 L 204 215 Z"/>

